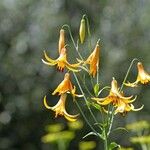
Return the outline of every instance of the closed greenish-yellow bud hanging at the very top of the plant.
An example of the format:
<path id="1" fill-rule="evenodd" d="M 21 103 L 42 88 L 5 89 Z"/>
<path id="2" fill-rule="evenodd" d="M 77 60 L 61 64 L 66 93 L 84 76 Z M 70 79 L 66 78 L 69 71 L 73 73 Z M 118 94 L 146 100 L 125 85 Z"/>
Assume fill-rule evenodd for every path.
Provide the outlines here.
<path id="1" fill-rule="evenodd" d="M 81 19 L 81 22 L 80 22 L 79 36 L 80 36 L 80 41 L 82 44 L 85 39 L 85 19 L 84 19 L 84 17 Z"/>

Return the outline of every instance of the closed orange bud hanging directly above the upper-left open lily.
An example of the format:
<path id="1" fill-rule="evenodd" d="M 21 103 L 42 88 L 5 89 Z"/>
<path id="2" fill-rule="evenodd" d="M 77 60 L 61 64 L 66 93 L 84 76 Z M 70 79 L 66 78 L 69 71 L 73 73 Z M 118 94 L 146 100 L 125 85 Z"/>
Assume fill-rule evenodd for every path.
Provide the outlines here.
<path id="1" fill-rule="evenodd" d="M 64 46 L 65 46 L 65 30 L 61 29 L 59 35 L 59 45 L 58 45 L 59 54 L 61 53 L 61 49 L 64 48 Z"/>

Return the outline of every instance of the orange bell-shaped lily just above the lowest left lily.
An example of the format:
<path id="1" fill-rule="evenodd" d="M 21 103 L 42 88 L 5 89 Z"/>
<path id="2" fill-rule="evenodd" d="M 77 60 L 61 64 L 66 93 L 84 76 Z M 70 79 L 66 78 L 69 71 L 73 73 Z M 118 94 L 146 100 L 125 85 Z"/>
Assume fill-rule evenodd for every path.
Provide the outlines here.
<path id="1" fill-rule="evenodd" d="M 64 80 L 58 85 L 58 87 L 55 89 L 55 91 L 52 93 L 52 95 L 55 95 L 58 93 L 58 95 L 64 94 L 64 93 L 71 93 L 73 96 L 82 97 L 83 95 L 78 95 L 75 93 L 76 87 L 72 85 L 70 81 L 70 74 L 66 73 L 64 76 Z"/>

